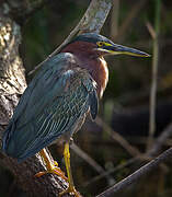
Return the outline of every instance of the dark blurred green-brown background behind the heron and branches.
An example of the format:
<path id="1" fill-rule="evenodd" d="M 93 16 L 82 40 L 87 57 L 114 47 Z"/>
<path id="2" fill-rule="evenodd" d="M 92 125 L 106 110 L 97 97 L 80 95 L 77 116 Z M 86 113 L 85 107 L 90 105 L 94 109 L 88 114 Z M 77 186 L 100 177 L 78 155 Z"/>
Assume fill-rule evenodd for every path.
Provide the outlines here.
<path id="1" fill-rule="evenodd" d="M 27 82 L 33 78 L 33 76 L 27 76 L 28 71 L 33 70 L 62 43 L 81 19 L 89 3 L 88 0 L 49 1 L 22 26 L 23 38 L 20 53 L 26 69 Z M 138 48 L 152 55 L 153 38 L 149 26 L 154 26 L 156 5 L 156 0 L 114 0 L 114 8 L 101 34 L 114 43 Z M 156 138 L 172 120 L 171 21 L 172 1 L 163 0 L 160 12 Z M 128 150 L 116 142 L 112 136 L 115 130 L 140 152 L 146 152 L 152 58 L 113 56 L 107 57 L 106 61 L 108 62 L 110 81 L 100 103 L 99 113 L 101 123 L 103 123 L 88 120 L 74 137 L 76 144 L 96 161 L 102 166 L 102 171 L 98 172 L 98 165 L 91 166 L 88 163 L 90 159 L 84 160 L 83 153 L 79 155 L 74 147 L 71 150 L 74 183 L 78 190 L 87 197 L 105 190 L 147 162 L 129 163 L 128 161 L 135 155 L 128 153 Z M 165 150 L 171 144 L 171 139 L 168 139 L 163 149 Z M 61 151 L 57 146 L 50 149 L 54 158 L 64 167 Z M 157 152 L 157 155 L 159 153 Z M 169 161 L 165 163 L 165 170 L 160 166 L 116 196 L 171 197 L 171 164 L 172 162 Z M 116 170 L 116 166 L 119 169 Z M 100 177 L 103 171 L 112 171 L 112 173 Z M 0 173 L 5 176 L 0 181 L 0 194 L 2 194 L 0 196 L 25 196 L 14 184 L 12 175 L 7 170 L 0 169 Z"/>

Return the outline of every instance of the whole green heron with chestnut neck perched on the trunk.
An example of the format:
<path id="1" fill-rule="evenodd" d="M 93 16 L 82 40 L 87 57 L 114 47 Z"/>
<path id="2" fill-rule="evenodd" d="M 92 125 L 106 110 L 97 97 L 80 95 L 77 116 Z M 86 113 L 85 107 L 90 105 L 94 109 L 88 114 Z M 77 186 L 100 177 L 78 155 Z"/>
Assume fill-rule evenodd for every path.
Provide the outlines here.
<path id="1" fill-rule="evenodd" d="M 104 56 L 130 55 L 149 57 L 147 53 L 114 44 L 98 33 L 83 33 L 70 40 L 61 50 L 45 61 L 33 78 L 4 131 L 2 150 L 9 157 L 25 161 L 37 152 L 44 159 L 46 173 L 54 173 L 69 182 L 66 190 L 77 192 L 70 167 L 70 139 L 87 116 L 95 119 L 99 101 L 108 81 Z M 64 140 L 65 173 L 57 162 L 50 162 L 45 148 Z"/>

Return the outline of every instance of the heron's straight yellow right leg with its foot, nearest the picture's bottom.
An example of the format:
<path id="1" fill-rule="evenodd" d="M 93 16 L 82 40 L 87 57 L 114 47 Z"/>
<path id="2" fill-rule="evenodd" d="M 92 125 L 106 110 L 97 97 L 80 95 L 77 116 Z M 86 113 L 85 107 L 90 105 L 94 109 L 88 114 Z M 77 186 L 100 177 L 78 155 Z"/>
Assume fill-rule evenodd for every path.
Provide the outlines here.
<path id="1" fill-rule="evenodd" d="M 65 158 L 65 164 L 66 164 L 66 170 L 67 170 L 67 175 L 68 175 L 69 187 L 62 193 L 60 193 L 59 196 L 62 196 L 64 194 L 69 193 L 69 194 L 73 194 L 76 197 L 81 197 L 80 194 L 74 188 L 73 178 L 71 174 L 69 142 L 65 143 L 64 158 Z"/>

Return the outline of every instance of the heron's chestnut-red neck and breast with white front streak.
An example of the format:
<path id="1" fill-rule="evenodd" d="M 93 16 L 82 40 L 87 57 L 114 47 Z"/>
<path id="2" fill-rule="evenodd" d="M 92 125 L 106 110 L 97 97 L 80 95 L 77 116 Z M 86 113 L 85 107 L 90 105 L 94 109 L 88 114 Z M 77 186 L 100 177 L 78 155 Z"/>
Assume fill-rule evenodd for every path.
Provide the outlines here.
<path id="1" fill-rule="evenodd" d="M 79 67 L 87 69 L 96 82 L 96 92 L 102 97 L 108 80 L 106 61 L 96 50 L 94 44 L 74 42 L 62 48 L 61 53 L 71 53 L 77 57 Z"/>

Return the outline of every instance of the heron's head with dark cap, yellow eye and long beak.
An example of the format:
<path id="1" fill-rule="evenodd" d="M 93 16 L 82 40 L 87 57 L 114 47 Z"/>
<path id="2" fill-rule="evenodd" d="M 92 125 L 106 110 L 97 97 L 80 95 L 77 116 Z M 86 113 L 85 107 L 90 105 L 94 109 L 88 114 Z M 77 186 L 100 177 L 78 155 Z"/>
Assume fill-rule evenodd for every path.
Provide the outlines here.
<path id="1" fill-rule="evenodd" d="M 81 34 L 72 39 L 66 47 L 70 48 L 70 50 L 79 50 L 80 53 L 85 51 L 95 56 L 124 54 L 129 56 L 149 57 L 149 55 L 144 51 L 114 44 L 108 38 L 96 33 Z"/>

